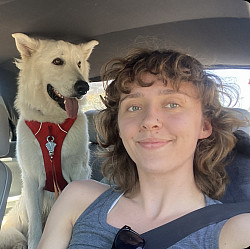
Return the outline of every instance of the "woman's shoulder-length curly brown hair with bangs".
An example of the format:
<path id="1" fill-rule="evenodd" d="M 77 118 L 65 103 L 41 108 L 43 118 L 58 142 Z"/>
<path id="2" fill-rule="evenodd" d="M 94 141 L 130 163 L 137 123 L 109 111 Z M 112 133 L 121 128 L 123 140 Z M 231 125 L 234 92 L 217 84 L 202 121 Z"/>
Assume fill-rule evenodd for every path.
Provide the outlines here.
<path id="1" fill-rule="evenodd" d="M 231 102 L 233 97 L 237 99 L 237 90 L 223 86 L 221 80 L 208 74 L 195 58 L 173 50 L 134 49 L 124 58 L 113 59 L 104 67 L 105 96 L 102 101 L 106 108 L 96 119 L 102 138 L 100 145 L 107 148 L 104 150 L 103 175 L 124 192 L 131 192 L 138 183 L 136 165 L 119 136 L 118 109 L 121 94 L 130 93 L 134 81 L 140 86 L 149 86 L 141 80 L 148 72 L 161 77 L 166 85 L 171 84 L 177 91 L 182 82 L 188 81 L 195 86 L 203 115 L 210 120 L 213 132 L 197 143 L 194 176 L 203 193 L 219 198 L 228 181 L 225 159 L 236 143 L 233 128 L 244 125 L 233 111 L 222 106 L 221 98 L 226 96 Z"/>

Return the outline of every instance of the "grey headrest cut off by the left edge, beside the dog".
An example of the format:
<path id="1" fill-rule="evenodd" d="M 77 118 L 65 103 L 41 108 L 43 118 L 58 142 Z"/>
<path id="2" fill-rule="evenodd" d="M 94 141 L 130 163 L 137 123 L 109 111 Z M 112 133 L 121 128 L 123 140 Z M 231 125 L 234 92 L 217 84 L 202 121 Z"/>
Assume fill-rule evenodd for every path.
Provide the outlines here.
<path id="1" fill-rule="evenodd" d="M 2 96 L 0 96 L 0 156 L 9 152 L 9 120 L 8 112 Z"/>

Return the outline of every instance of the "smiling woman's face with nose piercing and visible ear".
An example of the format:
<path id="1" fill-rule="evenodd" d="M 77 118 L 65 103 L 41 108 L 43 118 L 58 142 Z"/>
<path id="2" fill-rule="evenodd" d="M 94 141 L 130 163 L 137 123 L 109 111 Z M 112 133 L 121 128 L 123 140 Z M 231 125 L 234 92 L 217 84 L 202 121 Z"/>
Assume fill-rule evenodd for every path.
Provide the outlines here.
<path id="1" fill-rule="evenodd" d="M 212 127 L 202 115 L 194 86 L 184 82 L 178 92 L 152 74 L 143 76 L 150 87 L 134 82 L 122 94 L 118 112 L 119 134 L 138 171 L 163 173 L 185 165 L 193 168 L 198 139 Z"/>

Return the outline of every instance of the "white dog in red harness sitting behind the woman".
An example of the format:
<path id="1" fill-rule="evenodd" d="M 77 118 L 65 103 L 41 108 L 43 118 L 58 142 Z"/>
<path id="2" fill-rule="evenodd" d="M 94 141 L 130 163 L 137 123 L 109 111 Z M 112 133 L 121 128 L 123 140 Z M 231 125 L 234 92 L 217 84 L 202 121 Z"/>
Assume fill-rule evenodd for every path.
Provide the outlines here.
<path id="1" fill-rule="evenodd" d="M 21 54 L 15 107 L 23 188 L 5 217 L 0 248 L 36 249 L 55 194 L 91 175 L 87 119 L 78 103 L 89 89 L 87 59 L 98 42 L 74 45 L 21 33 L 13 37 Z"/>

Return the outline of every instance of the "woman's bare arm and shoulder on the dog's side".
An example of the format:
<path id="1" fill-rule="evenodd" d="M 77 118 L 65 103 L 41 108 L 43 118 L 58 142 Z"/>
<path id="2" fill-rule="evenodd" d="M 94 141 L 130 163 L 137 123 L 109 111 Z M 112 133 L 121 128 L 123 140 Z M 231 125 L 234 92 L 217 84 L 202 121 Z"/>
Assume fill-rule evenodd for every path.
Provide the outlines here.
<path id="1" fill-rule="evenodd" d="M 38 249 L 68 248 L 76 220 L 107 188 L 107 185 L 92 180 L 70 183 L 49 214 Z"/>

